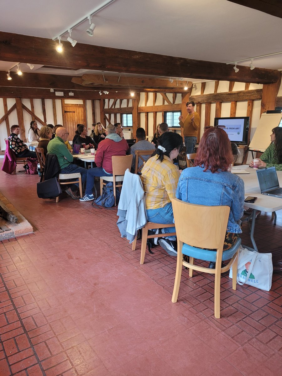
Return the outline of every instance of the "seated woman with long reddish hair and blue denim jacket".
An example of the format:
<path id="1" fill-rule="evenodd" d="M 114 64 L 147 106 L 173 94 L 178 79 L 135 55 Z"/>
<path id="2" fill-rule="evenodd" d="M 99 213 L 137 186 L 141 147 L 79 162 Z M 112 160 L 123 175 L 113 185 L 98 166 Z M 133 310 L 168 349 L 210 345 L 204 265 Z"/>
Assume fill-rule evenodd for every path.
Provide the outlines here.
<path id="1" fill-rule="evenodd" d="M 230 207 L 223 250 L 231 248 L 241 233 L 244 211 L 244 182 L 228 171 L 233 161 L 227 133 L 210 128 L 203 134 L 194 159 L 195 167 L 185 168 L 180 176 L 176 198 L 198 205 Z M 209 268 L 215 268 L 211 262 Z"/>

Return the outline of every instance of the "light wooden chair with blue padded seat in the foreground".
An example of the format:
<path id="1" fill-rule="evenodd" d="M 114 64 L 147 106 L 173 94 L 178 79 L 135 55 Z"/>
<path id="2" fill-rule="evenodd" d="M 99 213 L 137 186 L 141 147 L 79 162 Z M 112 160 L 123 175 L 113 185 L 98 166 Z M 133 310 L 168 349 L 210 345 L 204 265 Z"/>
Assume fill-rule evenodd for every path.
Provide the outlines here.
<path id="1" fill-rule="evenodd" d="M 215 318 L 220 318 L 221 273 L 229 270 L 233 265 L 232 288 L 236 290 L 238 250 L 241 244 L 241 239 L 238 238 L 232 248 L 223 251 L 230 208 L 229 206 L 193 205 L 178 199 L 172 199 L 171 202 L 177 236 L 176 276 L 171 301 L 177 302 L 182 265 L 189 269 L 190 277 L 193 276 L 193 270 L 215 274 L 214 315 Z M 189 262 L 183 261 L 183 255 L 189 256 Z M 194 258 L 214 261 L 215 269 L 194 265 Z M 229 259 L 229 263 L 221 268 L 221 261 Z"/>

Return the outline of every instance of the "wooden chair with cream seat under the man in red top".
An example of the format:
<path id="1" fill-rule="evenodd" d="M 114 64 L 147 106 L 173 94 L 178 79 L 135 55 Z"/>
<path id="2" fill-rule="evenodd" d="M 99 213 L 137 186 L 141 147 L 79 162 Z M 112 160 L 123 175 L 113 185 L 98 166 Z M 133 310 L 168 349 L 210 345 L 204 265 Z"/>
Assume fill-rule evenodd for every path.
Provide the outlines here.
<path id="1" fill-rule="evenodd" d="M 124 173 L 127 170 L 127 168 L 131 168 L 132 164 L 132 157 L 133 155 L 124 155 L 124 156 L 118 156 L 113 155 L 112 156 L 112 174 L 113 176 L 101 176 L 100 177 L 100 191 L 102 194 L 103 186 L 107 184 L 107 182 L 113 182 L 114 184 L 114 197 L 116 196 L 115 188 L 121 187 Z M 120 183 L 120 184 L 117 184 Z M 115 197 L 115 206 L 117 205 L 116 197 Z"/>

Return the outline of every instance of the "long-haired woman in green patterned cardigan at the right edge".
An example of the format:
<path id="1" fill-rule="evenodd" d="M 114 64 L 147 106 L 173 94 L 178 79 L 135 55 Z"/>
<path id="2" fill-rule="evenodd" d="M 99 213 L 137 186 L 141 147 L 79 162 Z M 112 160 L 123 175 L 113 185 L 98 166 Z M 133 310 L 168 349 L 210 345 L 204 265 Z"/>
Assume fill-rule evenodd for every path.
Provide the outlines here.
<path id="1" fill-rule="evenodd" d="M 275 167 L 277 171 L 282 171 L 282 127 L 273 128 L 270 138 L 271 144 L 261 155 L 258 166 Z M 250 167 L 253 167 L 253 161 Z"/>

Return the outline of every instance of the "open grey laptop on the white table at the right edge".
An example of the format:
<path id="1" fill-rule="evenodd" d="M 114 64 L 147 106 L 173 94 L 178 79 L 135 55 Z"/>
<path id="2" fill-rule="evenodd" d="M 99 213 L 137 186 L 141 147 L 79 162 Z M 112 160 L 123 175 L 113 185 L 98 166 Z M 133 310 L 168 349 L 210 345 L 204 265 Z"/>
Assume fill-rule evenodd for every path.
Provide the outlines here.
<path id="1" fill-rule="evenodd" d="M 275 167 L 263 168 L 256 170 L 259 188 L 262 194 L 282 198 L 282 188 L 279 186 Z"/>

